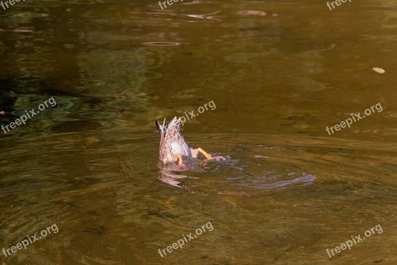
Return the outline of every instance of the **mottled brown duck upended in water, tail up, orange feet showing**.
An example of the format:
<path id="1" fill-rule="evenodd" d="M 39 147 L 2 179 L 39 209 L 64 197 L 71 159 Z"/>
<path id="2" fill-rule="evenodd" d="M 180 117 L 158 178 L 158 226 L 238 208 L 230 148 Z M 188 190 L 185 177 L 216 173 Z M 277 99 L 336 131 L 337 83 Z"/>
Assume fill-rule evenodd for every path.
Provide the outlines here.
<path id="1" fill-rule="evenodd" d="M 181 117 L 176 116 L 166 126 L 167 117 L 164 118 L 163 125 L 156 120 L 156 127 L 160 133 L 160 155 L 159 159 L 163 163 L 177 162 L 182 166 L 186 158 L 197 158 L 198 154 L 203 154 L 208 160 L 219 159 L 223 157 L 212 157 L 202 148 L 191 148 L 183 138 L 181 133 Z"/>

